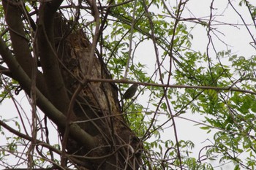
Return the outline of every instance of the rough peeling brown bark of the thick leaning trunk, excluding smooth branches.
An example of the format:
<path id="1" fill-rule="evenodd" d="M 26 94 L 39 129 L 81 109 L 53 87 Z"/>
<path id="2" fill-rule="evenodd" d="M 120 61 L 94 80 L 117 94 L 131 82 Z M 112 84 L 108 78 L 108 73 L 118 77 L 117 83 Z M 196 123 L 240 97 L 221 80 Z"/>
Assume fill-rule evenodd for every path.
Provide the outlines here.
<path id="1" fill-rule="evenodd" d="M 91 43 L 82 30 L 70 32 L 67 22 L 60 16 L 56 19 L 55 28 L 56 49 L 63 63 L 60 64 L 62 75 L 71 95 L 87 74 Z M 91 78 L 109 79 L 110 74 L 101 59 L 95 55 L 93 60 Z M 108 82 L 87 83 L 79 94 L 74 112 L 73 121 L 79 121 L 78 125 L 94 136 L 99 148 L 90 152 L 69 140 L 67 150 L 70 154 L 103 156 L 94 161 L 84 159 L 92 163 L 93 169 L 138 169 L 140 142 L 121 116 L 116 85 Z"/>

